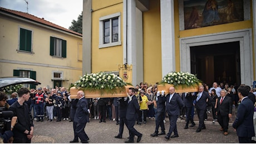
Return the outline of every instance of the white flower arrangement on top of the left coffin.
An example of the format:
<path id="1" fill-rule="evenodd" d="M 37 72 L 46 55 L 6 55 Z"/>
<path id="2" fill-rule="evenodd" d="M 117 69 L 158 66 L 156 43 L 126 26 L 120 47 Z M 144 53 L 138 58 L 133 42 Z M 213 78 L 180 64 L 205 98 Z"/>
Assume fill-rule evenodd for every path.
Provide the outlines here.
<path id="1" fill-rule="evenodd" d="M 91 73 L 80 76 L 74 86 L 77 89 L 102 92 L 115 92 L 116 88 L 125 88 L 127 83 L 123 81 L 119 76 L 109 73 Z M 130 85 L 130 84 L 129 84 Z"/>

